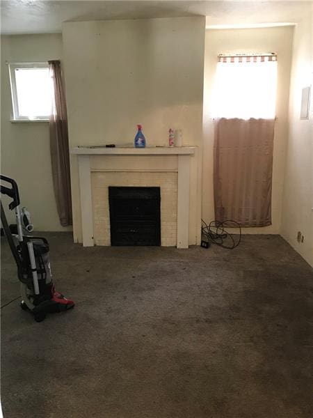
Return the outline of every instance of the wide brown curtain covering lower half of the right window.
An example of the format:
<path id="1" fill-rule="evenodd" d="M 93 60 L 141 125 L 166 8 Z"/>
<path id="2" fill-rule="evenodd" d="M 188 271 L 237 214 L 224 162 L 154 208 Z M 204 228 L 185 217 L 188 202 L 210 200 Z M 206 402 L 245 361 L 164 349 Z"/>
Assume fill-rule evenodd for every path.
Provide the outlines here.
<path id="1" fill-rule="evenodd" d="M 274 120 L 214 121 L 216 220 L 271 225 Z"/>

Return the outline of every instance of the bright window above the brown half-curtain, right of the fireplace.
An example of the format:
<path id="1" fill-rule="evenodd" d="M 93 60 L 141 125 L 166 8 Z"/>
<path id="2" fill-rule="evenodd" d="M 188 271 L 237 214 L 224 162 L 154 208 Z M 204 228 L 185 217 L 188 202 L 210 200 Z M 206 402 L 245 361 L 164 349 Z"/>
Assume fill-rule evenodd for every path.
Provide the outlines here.
<path id="1" fill-rule="evenodd" d="M 213 114 L 218 118 L 275 118 L 275 54 L 218 56 Z"/>

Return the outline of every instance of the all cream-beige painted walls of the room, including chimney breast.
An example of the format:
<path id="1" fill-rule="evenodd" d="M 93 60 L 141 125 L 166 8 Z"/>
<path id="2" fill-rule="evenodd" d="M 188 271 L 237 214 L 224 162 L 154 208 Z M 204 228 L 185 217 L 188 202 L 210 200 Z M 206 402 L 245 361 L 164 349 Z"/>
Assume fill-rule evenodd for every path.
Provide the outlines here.
<path id="1" fill-rule="evenodd" d="M 284 238 L 312 264 L 312 121 L 300 121 L 298 115 L 300 91 L 312 82 L 311 20 L 307 16 L 295 29 L 288 141 L 289 71 L 294 29 L 206 31 L 202 217 L 207 221 L 214 219 L 210 95 L 216 56 L 225 52 L 277 52 L 273 225 L 246 229 L 245 232 L 282 231 Z M 168 127 L 182 129 L 184 145 L 199 146 L 201 159 L 202 18 L 67 23 L 64 38 L 70 146 L 111 142 L 132 144 L 136 123 L 143 123 L 150 145 L 166 144 Z M 1 37 L 1 172 L 17 180 L 22 203 L 31 210 L 36 229 L 46 231 L 65 230 L 56 212 L 49 128 L 47 123 L 10 123 L 12 109 L 6 61 L 47 61 L 62 59 L 62 56 L 61 34 Z M 193 239 L 199 231 L 201 170 L 199 161 L 193 164 Z M 195 182 L 197 171 L 198 183 Z M 72 158 L 72 182 L 74 219 L 79 225 L 75 158 Z M 303 244 L 296 241 L 297 231 L 305 235 Z M 75 240 L 81 240 L 79 226 Z"/>

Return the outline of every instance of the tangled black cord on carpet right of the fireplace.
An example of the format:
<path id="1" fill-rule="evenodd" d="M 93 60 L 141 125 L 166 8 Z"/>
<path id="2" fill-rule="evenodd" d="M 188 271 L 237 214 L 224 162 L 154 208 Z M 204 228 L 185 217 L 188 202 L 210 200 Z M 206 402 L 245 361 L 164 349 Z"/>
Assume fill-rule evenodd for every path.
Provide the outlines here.
<path id="1" fill-rule="evenodd" d="M 241 226 L 238 222 L 227 219 L 226 221 L 211 221 L 208 224 L 201 219 L 202 241 L 218 245 L 226 249 L 234 249 L 241 242 Z M 231 234 L 225 228 L 238 228 L 239 234 Z M 236 237 L 236 239 L 234 238 Z M 209 245 L 208 245 L 209 247 Z"/>

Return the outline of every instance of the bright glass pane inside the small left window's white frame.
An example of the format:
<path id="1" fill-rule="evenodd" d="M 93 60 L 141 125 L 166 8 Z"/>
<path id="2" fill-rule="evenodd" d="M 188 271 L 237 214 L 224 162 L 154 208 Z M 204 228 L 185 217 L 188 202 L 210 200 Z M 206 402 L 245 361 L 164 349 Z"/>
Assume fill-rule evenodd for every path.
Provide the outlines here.
<path id="1" fill-rule="evenodd" d="M 16 68 L 15 82 L 19 116 L 49 117 L 51 112 L 49 68 Z"/>

